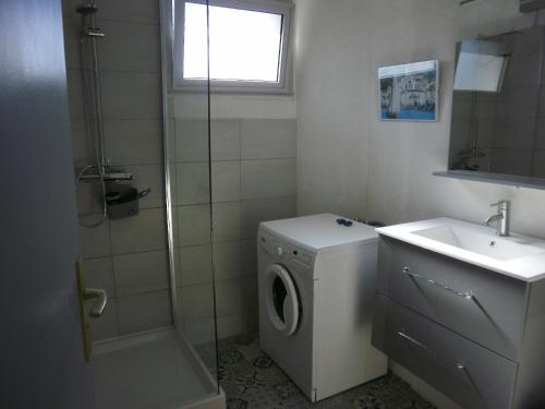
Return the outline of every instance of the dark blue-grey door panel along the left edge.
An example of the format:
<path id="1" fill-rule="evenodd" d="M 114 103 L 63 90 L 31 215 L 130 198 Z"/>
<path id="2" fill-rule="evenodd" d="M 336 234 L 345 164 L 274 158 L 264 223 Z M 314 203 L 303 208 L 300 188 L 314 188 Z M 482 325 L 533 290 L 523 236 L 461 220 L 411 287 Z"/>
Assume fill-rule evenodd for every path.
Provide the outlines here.
<path id="1" fill-rule="evenodd" d="M 61 1 L 0 9 L 0 408 L 88 409 Z"/>

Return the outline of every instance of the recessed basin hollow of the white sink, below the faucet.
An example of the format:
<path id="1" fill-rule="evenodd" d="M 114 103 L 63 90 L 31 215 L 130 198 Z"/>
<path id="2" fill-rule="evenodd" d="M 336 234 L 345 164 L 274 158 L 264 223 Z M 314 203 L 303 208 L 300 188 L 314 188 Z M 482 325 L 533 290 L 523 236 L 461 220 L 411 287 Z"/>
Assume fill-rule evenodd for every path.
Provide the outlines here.
<path id="1" fill-rule="evenodd" d="M 543 246 L 519 243 L 520 239 L 501 238 L 487 230 L 481 226 L 444 225 L 411 233 L 504 262 L 545 252 Z"/>

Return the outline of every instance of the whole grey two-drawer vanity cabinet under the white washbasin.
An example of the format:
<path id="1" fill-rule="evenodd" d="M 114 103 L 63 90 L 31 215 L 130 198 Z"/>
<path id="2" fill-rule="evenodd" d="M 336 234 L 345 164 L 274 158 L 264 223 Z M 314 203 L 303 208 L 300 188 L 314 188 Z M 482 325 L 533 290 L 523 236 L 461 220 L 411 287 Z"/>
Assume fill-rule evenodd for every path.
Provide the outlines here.
<path id="1" fill-rule="evenodd" d="M 545 408 L 545 284 L 379 237 L 373 345 L 463 408 Z"/>

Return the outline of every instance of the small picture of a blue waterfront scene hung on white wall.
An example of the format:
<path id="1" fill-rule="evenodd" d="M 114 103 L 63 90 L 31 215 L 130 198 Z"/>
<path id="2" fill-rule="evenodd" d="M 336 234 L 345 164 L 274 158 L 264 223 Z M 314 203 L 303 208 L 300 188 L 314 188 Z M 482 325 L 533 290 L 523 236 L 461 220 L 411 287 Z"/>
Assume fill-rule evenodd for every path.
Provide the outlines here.
<path id="1" fill-rule="evenodd" d="M 436 121 L 439 61 L 421 61 L 378 69 L 383 121 Z"/>

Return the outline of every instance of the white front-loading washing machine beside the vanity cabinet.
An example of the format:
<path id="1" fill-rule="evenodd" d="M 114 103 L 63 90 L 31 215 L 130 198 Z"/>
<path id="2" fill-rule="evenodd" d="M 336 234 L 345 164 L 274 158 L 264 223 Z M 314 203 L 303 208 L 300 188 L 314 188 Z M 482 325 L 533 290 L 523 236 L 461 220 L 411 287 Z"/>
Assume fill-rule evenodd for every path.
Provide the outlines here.
<path id="1" fill-rule="evenodd" d="M 312 401 L 387 371 L 371 345 L 377 234 L 338 219 L 266 221 L 257 236 L 261 347 Z"/>

